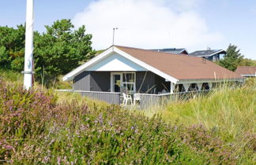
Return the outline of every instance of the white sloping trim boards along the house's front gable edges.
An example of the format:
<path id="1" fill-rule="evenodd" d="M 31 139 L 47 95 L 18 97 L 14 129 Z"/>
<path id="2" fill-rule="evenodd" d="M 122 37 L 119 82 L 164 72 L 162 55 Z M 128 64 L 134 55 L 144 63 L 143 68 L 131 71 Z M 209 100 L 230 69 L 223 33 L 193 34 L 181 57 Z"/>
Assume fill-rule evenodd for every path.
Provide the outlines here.
<path id="1" fill-rule="evenodd" d="M 85 64 L 82 64 L 80 67 L 75 68 L 72 72 L 69 72 L 68 74 L 64 75 L 62 80 L 63 81 L 68 81 L 68 80 L 73 79 L 73 77 L 75 75 L 77 75 L 77 74 L 81 73 L 82 71 L 84 71 L 85 68 L 88 68 L 88 66 L 90 66 L 92 64 L 95 64 L 97 61 L 100 61 L 101 59 L 103 59 L 104 57 L 106 57 L 107 55 L 109 55 L 109 54 L 111 54 L 113 52 L 119 53 L 119 55 L 121 55 L 122 57 L 126 57 L 128 60 L 133 61 L 135 64 L 138 64 L 138 65 L 140 65 L 143 68 L 146 68 L 147 70 L 155 73 L 156 75 L 160 75 L 164 79 L 168 79 L 171 83 L 177 83 L 177 81 L 179 81 L 178 79 L 175 79 L 171 75 L 167 75 L 164 72 L 161 72 L 160 70 L 158 70 L 156 68 L 153 68 L 149 64 L 145 64 L 145 62 L 140 61 L 140 60 L 138 60 L 135 57 L 132 57 L 130 54 L 123 52 L 122 50 L 118 49 L 115 46 L 111 46 L 109 49 L 107 49 L 106 51 L 104 51 L 100 55 L 92 58 L 92 60 L 86 62 Z"/>

